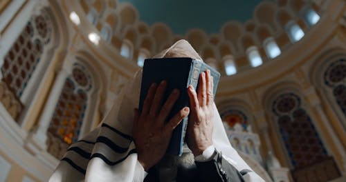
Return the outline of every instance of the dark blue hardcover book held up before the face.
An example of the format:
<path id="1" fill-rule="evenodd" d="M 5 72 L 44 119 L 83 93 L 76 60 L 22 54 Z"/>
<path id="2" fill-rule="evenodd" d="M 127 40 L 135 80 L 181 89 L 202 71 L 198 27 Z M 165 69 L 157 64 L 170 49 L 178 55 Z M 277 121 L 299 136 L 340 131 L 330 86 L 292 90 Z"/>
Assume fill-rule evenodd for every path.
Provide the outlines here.
<path id="1" fill-rule="evenodd" d="M 167 117 L 169 121 L 174 114 L 179 112 L 185 106 L 189 106 L 189 97 L 187 88 L 192 85 L 197 89 L 199 74 L 206 70 L 210 70 L 210 74 L 214 79 L 214 95 L 216 94 L 217 84 L 219 83 L 220 74 L 214 68 L 210 67 L 203 61 L 191 58 L 162 58 L 162 59 L 145 59 L 143 65 L 142 85 L 140 88 L 140 101 L 138 105 L 139 112 L 142 111 L 143 102 L 147 96 L 150 85 L 152 83 L 161 83 L 167 81 L 163 103 L 172 93 L 174 88 L 180 90 L 179 99 L 174 104 L 172 111 Z M 167 154 L 181 155 L 183 151 L 185 132 L 188 125 L 188 117 L 183 119 L 181 123 L 174 129 L 170 145 L 167 148 Z"/>

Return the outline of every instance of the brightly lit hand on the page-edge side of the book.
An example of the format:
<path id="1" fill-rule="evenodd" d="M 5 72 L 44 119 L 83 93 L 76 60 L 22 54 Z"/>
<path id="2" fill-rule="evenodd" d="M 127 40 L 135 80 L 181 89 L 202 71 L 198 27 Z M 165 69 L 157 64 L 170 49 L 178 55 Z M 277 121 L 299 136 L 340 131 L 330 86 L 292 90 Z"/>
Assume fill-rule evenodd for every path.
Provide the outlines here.
<path id="1" fill-rule="evenodd" d="M 214 127 L 213 94 L 214 87 L 210 70 L 199 75 L 198 94 L 192 85 L 188 87 L 191 114 L 188 123 L 188 147 L 198 156 L 212 145 L 212 128 Z"/>

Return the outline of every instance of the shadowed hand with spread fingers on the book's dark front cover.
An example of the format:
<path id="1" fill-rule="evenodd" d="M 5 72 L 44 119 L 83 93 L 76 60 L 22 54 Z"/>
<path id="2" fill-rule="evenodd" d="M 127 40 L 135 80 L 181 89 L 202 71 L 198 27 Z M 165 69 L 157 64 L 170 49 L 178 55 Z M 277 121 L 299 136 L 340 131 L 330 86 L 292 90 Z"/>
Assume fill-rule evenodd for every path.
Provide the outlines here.
<path id="1" fill-rule="evenodd" d="M 145 171 L 162 159 L 170 143 L 172 131 L 190 112 L 190 109 L 185 107 L 165 123 L 176 99 L 179 98 L 179 90 L 176 89 L 161 107 L 166 87 L 166 81 L 162 81 L 158 86 L 153 83 L 143 103 L 142 113 L 139 114 L 137 109 L 134 111 L 132 136 L 138 150 L 138 161 Z"/>

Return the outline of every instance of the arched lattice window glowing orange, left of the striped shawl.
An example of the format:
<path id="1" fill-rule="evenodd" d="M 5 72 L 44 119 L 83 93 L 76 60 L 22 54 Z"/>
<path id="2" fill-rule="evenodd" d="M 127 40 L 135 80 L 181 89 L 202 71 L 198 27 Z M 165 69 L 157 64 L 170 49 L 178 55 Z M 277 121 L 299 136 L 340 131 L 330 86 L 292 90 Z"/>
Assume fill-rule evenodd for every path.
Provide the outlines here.
<path id="1" fill-rule="evenodd" d="M 65 80 L 47 131 L 48 152 L 58 159 L 78 140 L 91 87 L 90 75 L 76 63 Z"/>

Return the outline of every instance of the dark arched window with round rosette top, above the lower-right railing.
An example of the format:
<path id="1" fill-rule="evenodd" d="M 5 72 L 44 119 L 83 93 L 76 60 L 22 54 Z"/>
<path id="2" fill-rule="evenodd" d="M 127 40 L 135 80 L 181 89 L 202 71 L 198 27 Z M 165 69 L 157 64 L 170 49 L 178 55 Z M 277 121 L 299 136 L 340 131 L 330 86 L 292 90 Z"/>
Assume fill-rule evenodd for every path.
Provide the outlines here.
<path id="1" fill-rule="evenodd" d="M 300 97 L 293 93 L 280 94 L 273 101 L 272 111 L 293 168 L 302 168 L 327 157 Z"/>

